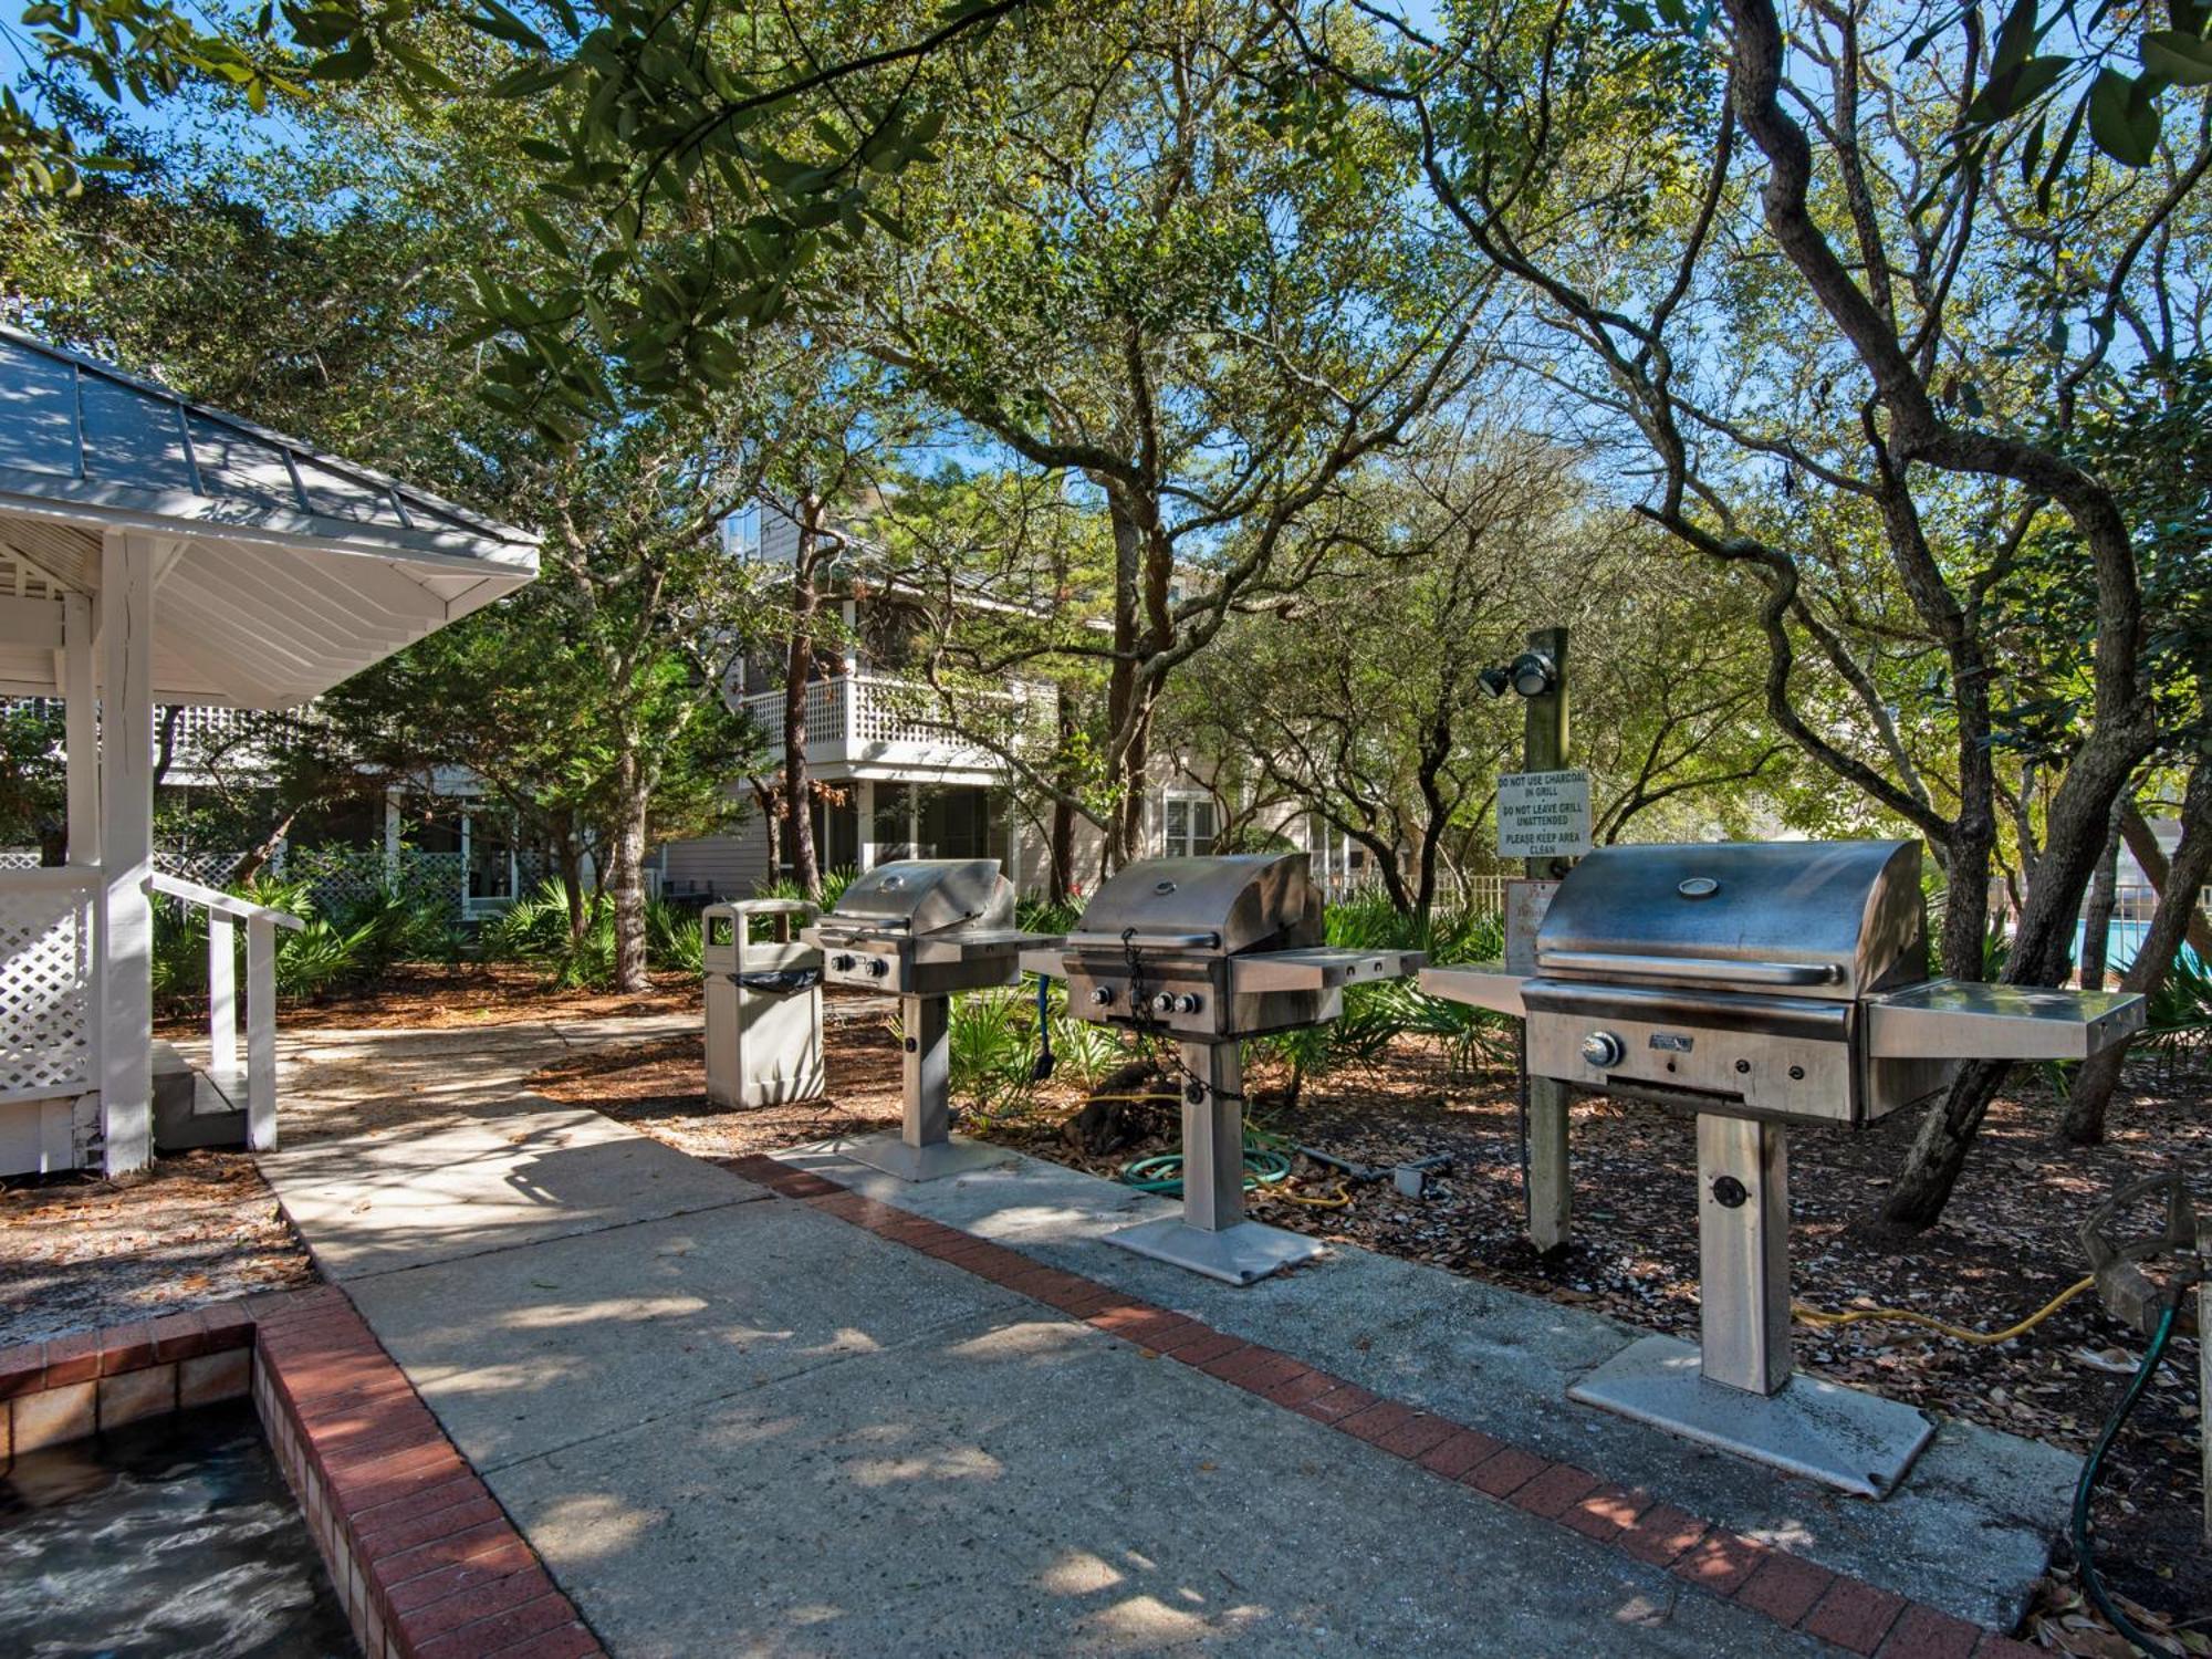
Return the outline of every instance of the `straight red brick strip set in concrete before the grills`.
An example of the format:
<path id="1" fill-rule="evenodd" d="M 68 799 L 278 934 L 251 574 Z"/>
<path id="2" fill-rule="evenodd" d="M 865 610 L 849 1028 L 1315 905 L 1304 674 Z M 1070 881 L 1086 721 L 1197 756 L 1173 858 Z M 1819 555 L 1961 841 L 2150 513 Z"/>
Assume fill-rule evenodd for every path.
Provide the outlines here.
<path id="1" fill-rule="evenodd" d="M 1387 1400 L 1290 1354 L 1245 1343 L 1095 1279 L 1046 1267 L 971 1232 L 852 1192 L 812 1170 L 794 1170 L 763 1155 L 712 1161 L 779 1197 L 805 1201 L 891 1243 L 1031 1296 L 1110 1336 L 1405 1458 L 1438 1480 L 1473 1486 L 1486 1498 L 1610 1544 L 1646 1566 L 1663 1566 L 1723 1601 L 1849 1652 L 1880 1659 L 2042 1659 L 2037 1648 L 2004 1632 L 1982 1630 L 1865 1579 L 1832 1573 L 1661 1504 L 1650 1493 L 1615 1486 L 1588 1469 L 1553 1462 L 1451 1418 Z"/>

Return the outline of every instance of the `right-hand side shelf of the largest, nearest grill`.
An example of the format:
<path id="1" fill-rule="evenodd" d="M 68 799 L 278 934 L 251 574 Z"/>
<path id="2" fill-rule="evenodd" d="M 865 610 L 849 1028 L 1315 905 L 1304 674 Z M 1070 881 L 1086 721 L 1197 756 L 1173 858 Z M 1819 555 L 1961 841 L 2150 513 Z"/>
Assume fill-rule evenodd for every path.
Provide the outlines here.
<path id="1" fill-rule="evenodd" d="M 1874 1060 L 2088 1060 L 2143 1029 L 2143 998 L 1929 980 L 1865 1000 Z"/>

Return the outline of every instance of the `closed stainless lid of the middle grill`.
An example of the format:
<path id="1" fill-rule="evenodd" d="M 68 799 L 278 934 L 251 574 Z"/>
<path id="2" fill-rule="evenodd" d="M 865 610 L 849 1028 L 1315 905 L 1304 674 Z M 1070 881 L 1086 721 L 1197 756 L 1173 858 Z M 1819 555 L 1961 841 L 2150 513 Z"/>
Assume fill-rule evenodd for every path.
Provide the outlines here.
<path id="1" fill-rule="evenodd" d="M 1133 945 L 1210 956 L 1321 945 L 1321 902 L 1303 852 L 1146 858 L 1084 905 L 1077 949 Z"/>

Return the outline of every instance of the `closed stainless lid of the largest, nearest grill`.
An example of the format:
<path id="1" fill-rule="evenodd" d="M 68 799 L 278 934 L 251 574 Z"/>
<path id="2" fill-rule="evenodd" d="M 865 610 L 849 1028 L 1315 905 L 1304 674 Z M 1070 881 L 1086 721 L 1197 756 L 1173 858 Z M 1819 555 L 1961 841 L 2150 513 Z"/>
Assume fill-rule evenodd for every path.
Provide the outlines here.
<path id="1" fill-rule="evenodd" d="M 1858 998 L 1927 978 L 1918 841 L 1599 847 L 1559 883 L 1537 973 Z"/>

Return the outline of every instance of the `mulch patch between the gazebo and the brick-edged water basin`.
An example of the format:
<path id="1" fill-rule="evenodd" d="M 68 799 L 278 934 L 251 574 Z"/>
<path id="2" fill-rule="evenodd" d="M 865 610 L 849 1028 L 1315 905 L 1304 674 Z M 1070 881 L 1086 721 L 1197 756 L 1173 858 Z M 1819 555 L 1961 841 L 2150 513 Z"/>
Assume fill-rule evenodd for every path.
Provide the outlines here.
<path id="1" fill-rule="evenodd" d="M 314 1281 L 246 1152 L 161 1157 L 124 1183 L 0 1186 L 0 1347 Z"/>

